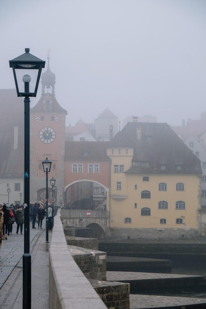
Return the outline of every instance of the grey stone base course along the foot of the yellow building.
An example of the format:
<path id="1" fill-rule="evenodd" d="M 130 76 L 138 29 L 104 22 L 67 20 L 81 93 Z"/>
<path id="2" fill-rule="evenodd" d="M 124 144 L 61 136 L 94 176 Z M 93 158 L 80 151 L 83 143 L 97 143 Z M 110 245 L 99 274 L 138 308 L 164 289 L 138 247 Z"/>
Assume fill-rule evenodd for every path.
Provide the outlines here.
<path id="1" fill-rule="evenodd" d="M 201 229 L 114 228 L 108 229 L 111 239 L 192 239 L 201 236 Z"/>

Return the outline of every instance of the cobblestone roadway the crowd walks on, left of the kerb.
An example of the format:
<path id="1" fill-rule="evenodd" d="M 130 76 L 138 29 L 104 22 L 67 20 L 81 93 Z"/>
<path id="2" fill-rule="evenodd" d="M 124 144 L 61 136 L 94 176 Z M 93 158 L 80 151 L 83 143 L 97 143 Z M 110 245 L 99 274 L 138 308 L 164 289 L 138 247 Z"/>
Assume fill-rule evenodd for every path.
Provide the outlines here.
<path id="1" fill-rule="evenodd" d="M 42 229 L 32 229 L 32 223 L 30 223 L 30 243 L 40 231 Z M 3 240 L 0 250 L 0 289 L 23 256 L 23 241 L 24 235 L 21 235 L 20 231 L 16 234 L 16 223 L 14 223 L 12 235 L 8 236 L 7 240 Z"/>

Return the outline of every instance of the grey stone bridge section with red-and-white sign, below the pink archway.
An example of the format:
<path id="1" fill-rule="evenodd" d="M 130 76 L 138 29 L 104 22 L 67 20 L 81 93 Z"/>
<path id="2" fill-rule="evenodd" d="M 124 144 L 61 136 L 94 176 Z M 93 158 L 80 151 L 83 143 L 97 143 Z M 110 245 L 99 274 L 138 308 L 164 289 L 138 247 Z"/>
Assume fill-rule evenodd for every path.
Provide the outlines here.
<path id="1" fill-rule="evenodd" d="M 87 213 L 88 210 L 82 209 L 62 209 L 61 221 L 63 226 L 74 227 L 89 227 L 93 228 L 97 235 L 103 234 L 102 238 L 107 236 L 107 210 L 90 210 L 90 217 Z"/>

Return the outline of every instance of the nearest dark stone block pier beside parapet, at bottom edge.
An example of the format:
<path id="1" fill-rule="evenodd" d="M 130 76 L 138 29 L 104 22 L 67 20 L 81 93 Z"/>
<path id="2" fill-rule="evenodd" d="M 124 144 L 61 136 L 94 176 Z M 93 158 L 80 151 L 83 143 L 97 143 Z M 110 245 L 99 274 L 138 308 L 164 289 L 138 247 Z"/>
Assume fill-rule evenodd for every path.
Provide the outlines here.
<path id="1" fill-rule="evenodd" d="M 129 283 L 90 280 L 107 308 L 129 309 Z"/>

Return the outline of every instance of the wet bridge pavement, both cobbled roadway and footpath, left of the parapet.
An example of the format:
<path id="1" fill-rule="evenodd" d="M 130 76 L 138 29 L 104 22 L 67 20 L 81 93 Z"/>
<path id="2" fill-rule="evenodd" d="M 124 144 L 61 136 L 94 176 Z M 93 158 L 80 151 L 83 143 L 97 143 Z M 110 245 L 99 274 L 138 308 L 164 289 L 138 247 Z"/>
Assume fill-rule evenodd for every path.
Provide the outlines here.
<path id="1" fill-rule="evenodd" d="M 51 234 L 52 232 L 49 231 L 49 240 Z M 7 243 L 4 245 L 5 242 Z M 31 308 L 47 309 L 49 303 L 49 243 L 45 243 L 45 228 L 31 228 L 30 243 L 32 256 Z M 3 241 L 2 249 L 0 252 L 0 279 L 6 281 L 0 289 L 0 308 L 22 309 L 23 235 L 15 233 L 8 236 L 8 240 Z"/>

